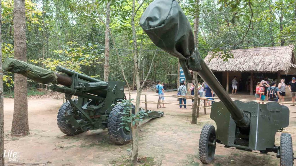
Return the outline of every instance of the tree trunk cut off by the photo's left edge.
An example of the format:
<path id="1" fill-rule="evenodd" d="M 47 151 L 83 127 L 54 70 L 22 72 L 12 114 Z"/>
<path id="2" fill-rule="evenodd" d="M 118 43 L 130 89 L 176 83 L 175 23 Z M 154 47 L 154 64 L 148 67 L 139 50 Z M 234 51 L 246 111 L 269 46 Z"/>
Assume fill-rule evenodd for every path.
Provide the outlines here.
<path id="1" fill-rule="evenodd" d="M 2 6 L 0 0 L 0 50 L 2 50 Z M 2 51 L 0 51 L 0 166 L 4 166 L 4 110 L 3 110 L 3 72 L 2 72 Z"/>

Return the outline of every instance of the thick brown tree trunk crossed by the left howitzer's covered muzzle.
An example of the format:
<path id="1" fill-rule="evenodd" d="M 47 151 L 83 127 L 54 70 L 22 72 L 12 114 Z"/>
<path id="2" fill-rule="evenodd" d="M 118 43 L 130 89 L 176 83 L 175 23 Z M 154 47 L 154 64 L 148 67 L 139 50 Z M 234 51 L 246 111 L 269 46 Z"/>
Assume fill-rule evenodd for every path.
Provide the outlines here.
<path id="1" fill-rule="evenodd" d="M 15 0 L 13 9 L 15 59 L 27 61 L 25 0 Z M 27 78 L 15 74 L 15 100 L 11 135 L 29 134 Z"/>

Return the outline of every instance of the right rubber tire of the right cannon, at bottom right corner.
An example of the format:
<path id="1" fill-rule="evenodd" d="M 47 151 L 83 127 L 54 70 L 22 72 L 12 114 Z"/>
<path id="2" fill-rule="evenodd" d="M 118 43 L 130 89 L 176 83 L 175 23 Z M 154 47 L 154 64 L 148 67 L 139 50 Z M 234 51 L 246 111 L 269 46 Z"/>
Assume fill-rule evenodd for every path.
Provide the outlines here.
<path id="1" fill-rule="evenodd" d="M 292 136 L 288 133 L 281 134 L 281 161 L 280 166 L 293 166 Z"/>

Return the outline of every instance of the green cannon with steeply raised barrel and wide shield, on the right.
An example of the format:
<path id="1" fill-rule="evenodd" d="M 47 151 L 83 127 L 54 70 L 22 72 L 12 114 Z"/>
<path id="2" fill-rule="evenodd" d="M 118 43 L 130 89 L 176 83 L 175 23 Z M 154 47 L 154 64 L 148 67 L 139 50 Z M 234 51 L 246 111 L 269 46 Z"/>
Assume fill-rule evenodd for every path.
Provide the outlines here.
<path id="1" fill-rule="evenodd" d="M 289 125 L 289 109 L 276 102 L 232 101 L 195 48 L 191 25 L 177 1 L 153 1 L 143 13 L 140 25 L 155 45 L 179 59 L 187 80 L 192 80 L 189 70 L 197 71 L 221 100 L 213 103 L 210 114 L 217 131 L 207 124 L 200 134 L 201 162 L 212 162 L 219 143 L 226 148 L 263 154 L 275 152 L 281 166 L 293 165 L 291 135 L 282 133 L 280 146 L 275 145 L 276 132 Z"/>

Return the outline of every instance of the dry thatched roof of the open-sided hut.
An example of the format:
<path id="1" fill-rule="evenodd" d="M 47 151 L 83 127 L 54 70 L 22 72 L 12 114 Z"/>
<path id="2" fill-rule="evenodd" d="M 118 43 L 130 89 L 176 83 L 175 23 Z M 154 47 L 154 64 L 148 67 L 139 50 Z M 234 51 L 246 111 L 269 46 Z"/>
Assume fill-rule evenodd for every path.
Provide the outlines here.
<path id="1" fill-rule="evenodd" d="M 228 61 L 223 61 L 219 56 L 210 60 L 213 52 L 209 52 L 204 61 L 212 71 L 287 73 L 290 67 L 296 67 L 293 51 L 293 45 L 232 50 L 229 53 L 232 53 L 234 58 L 229 58 Z"/>

